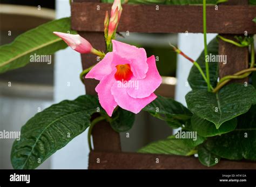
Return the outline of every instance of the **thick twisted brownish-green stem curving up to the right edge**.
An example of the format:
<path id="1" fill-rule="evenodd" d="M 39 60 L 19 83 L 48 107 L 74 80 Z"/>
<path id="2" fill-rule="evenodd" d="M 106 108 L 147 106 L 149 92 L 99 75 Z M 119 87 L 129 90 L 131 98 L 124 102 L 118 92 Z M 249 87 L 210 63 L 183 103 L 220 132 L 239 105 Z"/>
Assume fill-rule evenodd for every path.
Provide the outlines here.
<path id="1" fill-rule="evenodd" d="M 229 82 L 231 79 L 244 79 L 248 77 L 251 72 L 255 71 L 256 68 L 254 68 L 255 64 L 255 53 L 254 53 L 254 43 L 251 44 L 251 65 L 250 68 L 242 70 L 240 72 L 235 73 L 234 75 L 227 75 L 220 79 L 218 82 L 218 85 L 216 88 L 213 89 L 213 92 L 217 92 L 221 87 L 223 87 L 227 82 Z"/>

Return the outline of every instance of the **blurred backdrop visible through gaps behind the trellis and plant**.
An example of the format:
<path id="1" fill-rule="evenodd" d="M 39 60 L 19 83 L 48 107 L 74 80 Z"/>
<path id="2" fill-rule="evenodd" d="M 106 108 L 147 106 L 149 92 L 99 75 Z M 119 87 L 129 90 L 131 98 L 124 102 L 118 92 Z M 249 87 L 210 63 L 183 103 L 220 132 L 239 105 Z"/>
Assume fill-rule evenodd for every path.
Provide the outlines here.
<path id="1" fill-rule="evenodd" d="M 19 34 L 50 20 L 69 16 L 68 0 L 1 0 L 0 44 L 8 44 Z M 10 31 L 11 34 L 8 34 Z M 148 57 L 152 54 L 156 56 L 158 70 L 163 77 L 163 83 L 156 93 L 175 98 L 186 105 L 184 96 L 190 91 L 187 76 L 192 63 L 183 57 L 177 57 L 169 43 L 178 45 L 196 60 L 203 50 L 202 34 L 123 35 L 125 38 L 117 39 L 144 47 Z M 208 35 L 208 40 L 215 36 Z M 23 68 L 0 74 L 0 131 L 19 131 L 38 111 L 53 103 L 85 94 L 84 85 L 79 80 L 80 72 L 80 55 L 68 48 L 53 55 L 51 64 L 30 63 Z M 173 130 L 167 123 L 141 112 L 136 116 L 136 122 L 129 133 L 129 138 L 126 138 L 126 133 L 121 133 L 122 150 L 134 152 L 149 142 L 171 135 Z M 12 169 L 10 153 L 13 142 L 11 139 L 0 139 L 0 169 Z M 86 169 L 88 154 L 85 131 L 52 155 L 39 169 Z"/>

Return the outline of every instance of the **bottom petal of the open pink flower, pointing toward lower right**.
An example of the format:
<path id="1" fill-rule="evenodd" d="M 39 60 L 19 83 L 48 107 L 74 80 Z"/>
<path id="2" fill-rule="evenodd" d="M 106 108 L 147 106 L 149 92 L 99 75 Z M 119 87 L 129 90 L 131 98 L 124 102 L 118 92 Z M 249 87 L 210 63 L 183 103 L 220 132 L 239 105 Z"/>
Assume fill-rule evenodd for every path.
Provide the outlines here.
<path id="1" fill-rule="evenodd" d="M 118 106 L 135 114 L 138 114 L 147 104 L 157 98 L 154 93 L 146 98 L 132 98 L 127 93 L 126 89 L 127 88 L 119 87 L 118 82 L 115 82 L 111 88 L 111 94 L 114 96 L 114 100 L 117 102 Z"/>

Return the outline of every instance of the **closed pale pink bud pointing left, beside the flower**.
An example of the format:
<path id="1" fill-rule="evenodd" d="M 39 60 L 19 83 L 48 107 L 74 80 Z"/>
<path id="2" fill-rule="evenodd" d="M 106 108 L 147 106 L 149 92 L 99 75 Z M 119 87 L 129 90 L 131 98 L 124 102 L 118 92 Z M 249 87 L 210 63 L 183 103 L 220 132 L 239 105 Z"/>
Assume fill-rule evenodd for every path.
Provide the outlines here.
<path id="1" fill-rule="evenodd" d="M 62 32 L 53 33 L 62 38 L 66 44 L 79 53 L 90 53 L 93 50 L 89 41 L 81 37 L 79 34 L 67 34 Z"/>

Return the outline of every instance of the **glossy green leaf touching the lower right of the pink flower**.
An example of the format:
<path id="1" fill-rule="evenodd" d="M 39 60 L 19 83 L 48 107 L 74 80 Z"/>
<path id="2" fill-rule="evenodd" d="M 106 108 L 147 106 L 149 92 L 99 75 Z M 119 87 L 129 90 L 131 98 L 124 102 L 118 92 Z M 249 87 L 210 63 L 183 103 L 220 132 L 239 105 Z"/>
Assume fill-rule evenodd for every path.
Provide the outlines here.
<path id="1" fill-rule="evenodd" d="M 181 127 L 192 116 L 190 110 L 181 103 L 160 95 L 143 110 L 154 117 L 165 120 L 172 128 Z"/>

